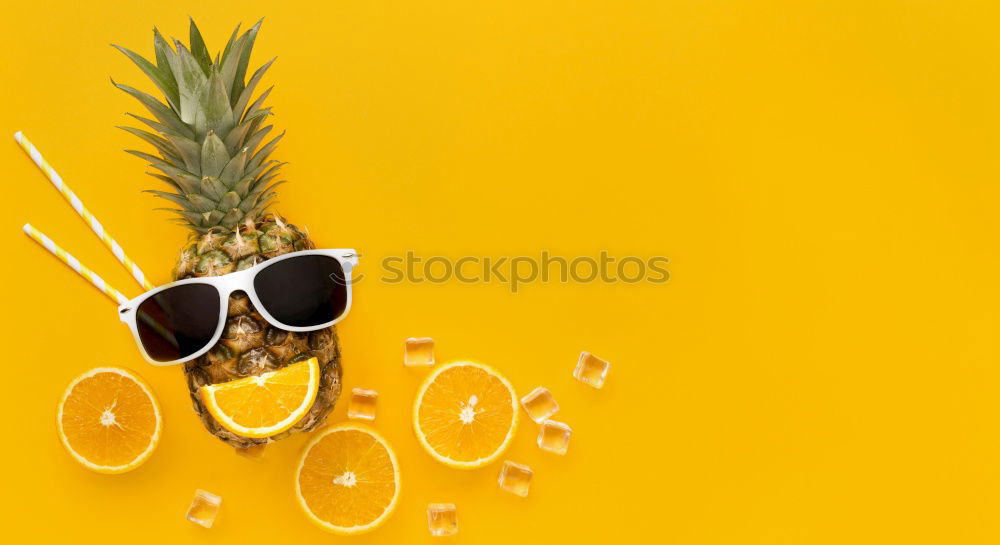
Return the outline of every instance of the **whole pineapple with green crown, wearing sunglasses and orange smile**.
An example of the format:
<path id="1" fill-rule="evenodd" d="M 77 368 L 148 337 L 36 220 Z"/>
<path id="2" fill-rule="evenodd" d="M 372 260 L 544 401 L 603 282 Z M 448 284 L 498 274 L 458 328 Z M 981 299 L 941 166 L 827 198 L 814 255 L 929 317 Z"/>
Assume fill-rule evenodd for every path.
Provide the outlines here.
<path id="1" fill-rule="evenodd" d="M 295 250 L 315 248 L 308 233 L 281 216 L 269 213 L 275 181 L 283 163 L 270 158 L 282 135 L 264 143 L 272 126 L 271 109 L 264 107 L 270 89 L 251 101 L 254 89 L 274 60 L 246 80 L 247 64 L 260 22 L 239 35 L 233 32 L 213 60 L 194 20 L 190 43 L 174 40 L 172 48 L 155 28 L 156 64 L 118 47 L 163 93 L 157 98 L 114 80 L 154 119 L 133 118 L 152 132 L 122 129 L 151 144 L 158 155 L 127 150 L 150 163 L 170 191 L 149 190 L 177 206 L 168 208 L 191 229 L 173 271 L 173 279 L 217 276 L 251 267 Z M 310 411 L 291 430 L 265 439 L 237 436 L 222 426 L 202 405 L 197 390 L 215 384 L 273 371 L 316 356 L 322 369 L 319 394 Z M 245 294 L 229 300 L 222 339 L 205 355 L 184 365 L 194 410 L 209 432 L 238 449 L 257 447 L 291 432 L 308 431 L 326 419 L 340 396 L 340 346 L 334 327 L 296 333 L 268 324 Z M 259 447 L 258 447 L 259 448 Z M 255 449 L 256 450 L 256 449 Z"/>

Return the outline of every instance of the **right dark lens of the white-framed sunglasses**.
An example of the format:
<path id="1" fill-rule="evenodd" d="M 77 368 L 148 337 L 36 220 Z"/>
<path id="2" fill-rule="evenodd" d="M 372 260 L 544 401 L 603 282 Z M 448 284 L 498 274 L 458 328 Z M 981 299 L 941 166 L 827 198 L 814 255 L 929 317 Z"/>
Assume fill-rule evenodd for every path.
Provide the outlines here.
<path id="1" fill-rule="evenodd" d="M 293 327 L 331 322 L 347 306 L 344 269 L 325 255 L 303 255 L 269 265 L 254 277 L 253 288 L 264 310 Z"/>

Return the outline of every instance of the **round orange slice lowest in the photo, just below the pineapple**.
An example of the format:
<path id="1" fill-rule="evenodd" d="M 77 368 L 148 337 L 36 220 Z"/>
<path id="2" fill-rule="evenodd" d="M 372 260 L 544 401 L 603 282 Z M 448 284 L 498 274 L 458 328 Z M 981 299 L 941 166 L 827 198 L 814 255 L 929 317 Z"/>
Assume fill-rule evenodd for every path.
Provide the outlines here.
<path id="1" fill-rule="evenodd" d="M 399 499 L 396 454 L 368 427 L 326 428 L 302 453 L 295 495 L 306 516 L 325 530 L 342 535 L 374 530 Z"/>

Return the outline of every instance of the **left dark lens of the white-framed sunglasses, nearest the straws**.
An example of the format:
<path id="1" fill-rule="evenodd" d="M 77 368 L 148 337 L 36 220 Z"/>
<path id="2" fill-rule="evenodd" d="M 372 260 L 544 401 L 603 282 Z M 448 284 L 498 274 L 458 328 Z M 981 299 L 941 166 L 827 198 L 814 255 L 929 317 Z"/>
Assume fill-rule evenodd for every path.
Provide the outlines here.
<path id="1" fill-rule="evenodd" d="M 208 284 L 165 289 L 136 309 L 139 340 L 155 361 L 186 358 L 205 347 L 219 326 L 219 292 Z"/>

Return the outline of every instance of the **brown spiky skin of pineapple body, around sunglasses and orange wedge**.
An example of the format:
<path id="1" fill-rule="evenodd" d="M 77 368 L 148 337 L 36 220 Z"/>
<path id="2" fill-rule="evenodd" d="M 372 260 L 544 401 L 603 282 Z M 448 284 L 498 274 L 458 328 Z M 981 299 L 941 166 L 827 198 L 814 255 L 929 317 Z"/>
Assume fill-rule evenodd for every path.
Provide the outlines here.
<path id="1" fill-rule="evenodd" d="M 192 234 L 181 250 L 175 280 L 218 276 L 252 267 L 288 252 L 315 248 L 308 235 L 275 216 L 247 222 L 234 231 Z M 312 408 L 295 426 L 264 439 L 240 437 L 223 428 L 202 404 L 198 389 L 238 378 L 259 375 L 316 357 L 320 365 L 319 393 Z M 205 355 L 184 364 L 191 402 L 205 428 L 236 448 L 250 448 L 309 431 L 322 424 L 341 391 L 342 369 L 337 330 L 331 326 L 299 333 L 278 329 L 264 320 L 246 294 L 229 299 L 222 339 Z"/>

